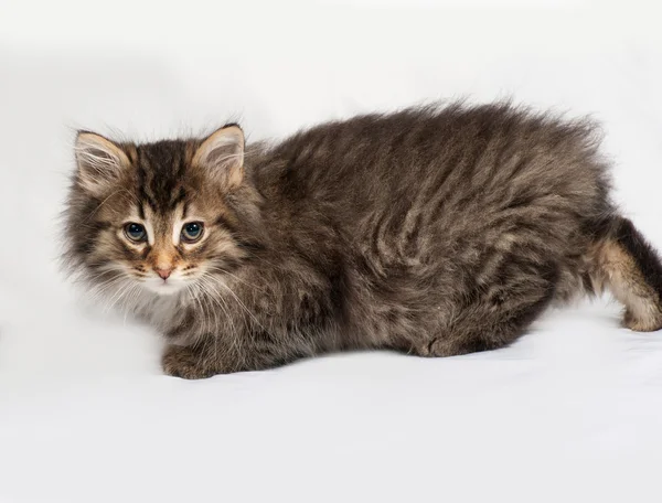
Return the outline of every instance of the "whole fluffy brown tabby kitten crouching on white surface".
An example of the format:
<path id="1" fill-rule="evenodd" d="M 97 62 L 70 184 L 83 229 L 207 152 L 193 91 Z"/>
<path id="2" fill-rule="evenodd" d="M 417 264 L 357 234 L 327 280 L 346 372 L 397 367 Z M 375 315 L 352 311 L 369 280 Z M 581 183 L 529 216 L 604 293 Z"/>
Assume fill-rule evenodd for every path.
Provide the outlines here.
<path id="1" fill-rule="evenodd" d="M 513 342 L 609 288 L 662 327 L 662 266 L 609 199 L 596 128 L 510 104 L 412 108 L 245 147 L 81 131 L 65 258 L 164 335 L 166 373 Z"/>

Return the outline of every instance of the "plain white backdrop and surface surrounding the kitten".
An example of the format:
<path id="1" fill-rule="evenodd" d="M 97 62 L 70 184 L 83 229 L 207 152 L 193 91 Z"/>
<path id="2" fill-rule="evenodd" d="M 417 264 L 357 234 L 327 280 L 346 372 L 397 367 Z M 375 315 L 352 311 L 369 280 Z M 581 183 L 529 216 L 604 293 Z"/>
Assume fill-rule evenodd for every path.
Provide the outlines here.
<path id="1" fill-rule="evenodd" d="M 654 2 L 0 4 L 0 503 L 659 501 L 662 333 L 608 299 L 512 347 L 162 376 L 148 328 L 58 272 L 78 127 L 249 139 L 440 98 L 592 114 L 662 248 Z"/>

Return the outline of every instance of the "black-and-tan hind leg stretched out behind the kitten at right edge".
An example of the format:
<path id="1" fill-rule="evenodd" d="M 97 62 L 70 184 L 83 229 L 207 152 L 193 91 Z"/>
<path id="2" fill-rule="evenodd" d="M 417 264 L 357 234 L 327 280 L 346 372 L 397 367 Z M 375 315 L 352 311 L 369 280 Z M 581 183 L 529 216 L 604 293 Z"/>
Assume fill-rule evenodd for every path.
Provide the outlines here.
<path id="1" fill-rule="evenodd" d="M 591 289 L 608 288 L 626 307 L 623 324 L 650 332 L 662 328 L 662 261 L 628 218 L 616 216 L 589 253 Z"/>

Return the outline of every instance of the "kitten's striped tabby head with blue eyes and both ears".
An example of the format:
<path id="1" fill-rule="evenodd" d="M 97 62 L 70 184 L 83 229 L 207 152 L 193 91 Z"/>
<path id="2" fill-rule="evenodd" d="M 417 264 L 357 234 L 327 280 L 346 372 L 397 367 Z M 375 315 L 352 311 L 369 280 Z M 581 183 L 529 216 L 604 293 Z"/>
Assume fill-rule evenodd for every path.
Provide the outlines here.
<path id="1" fill-rule="evenodd" d="M 171 295 L 244 257 L 237 207 L 250 197 L 242 193 L 237 126 L 204 140 L 145 145 L 81 131 L 75 153 L 67 259 L 95 287 Z"/>

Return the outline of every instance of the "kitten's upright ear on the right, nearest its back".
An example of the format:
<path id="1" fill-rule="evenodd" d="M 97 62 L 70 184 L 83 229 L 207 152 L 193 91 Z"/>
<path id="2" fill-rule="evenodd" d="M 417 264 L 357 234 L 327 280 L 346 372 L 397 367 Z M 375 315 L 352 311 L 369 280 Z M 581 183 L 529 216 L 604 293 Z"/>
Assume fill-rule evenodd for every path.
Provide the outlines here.
<path id="1" fill-rule="evenodd" d="M 205 169 L 212 179 L 238 185 L 244 179 L 244 131 L 226 126 L 209 136 L 195 151 L 193 164 Z"/>

